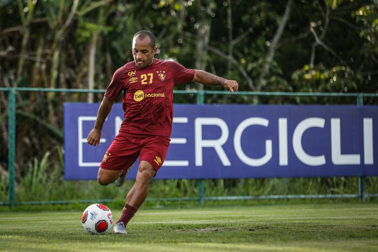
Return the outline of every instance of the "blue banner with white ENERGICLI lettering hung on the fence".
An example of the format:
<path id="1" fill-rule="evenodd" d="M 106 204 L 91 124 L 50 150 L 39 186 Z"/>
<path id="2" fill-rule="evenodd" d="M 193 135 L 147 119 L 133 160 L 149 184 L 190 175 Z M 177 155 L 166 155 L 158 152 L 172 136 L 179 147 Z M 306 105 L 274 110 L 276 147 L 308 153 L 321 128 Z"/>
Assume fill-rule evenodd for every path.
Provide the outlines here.
<path id="1" fill-rule="evenodd" d="M 115 103 L 100 145 L 87 144 L 98 107 L 64 105 L 65 179 L 96 179 L 118 133 L 123 110 Z M 156 178 L 376 176 L 377 122 L 378 106 L 175 104 Z"/>

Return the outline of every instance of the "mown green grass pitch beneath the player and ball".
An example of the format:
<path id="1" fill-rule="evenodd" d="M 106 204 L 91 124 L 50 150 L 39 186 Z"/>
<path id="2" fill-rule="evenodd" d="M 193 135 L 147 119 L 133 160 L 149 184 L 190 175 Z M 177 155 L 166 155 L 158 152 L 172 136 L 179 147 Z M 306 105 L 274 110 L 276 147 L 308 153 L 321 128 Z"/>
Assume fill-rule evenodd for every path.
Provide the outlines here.
<path id="1" fill-rule="evenodd" d="M 114 219 L 120 210 L 113 209 Z M 128 235 L 89 235 L 80 211 L 3 212 L 1 251 L 378 251 L 378 204 L 141 209 Z"/>

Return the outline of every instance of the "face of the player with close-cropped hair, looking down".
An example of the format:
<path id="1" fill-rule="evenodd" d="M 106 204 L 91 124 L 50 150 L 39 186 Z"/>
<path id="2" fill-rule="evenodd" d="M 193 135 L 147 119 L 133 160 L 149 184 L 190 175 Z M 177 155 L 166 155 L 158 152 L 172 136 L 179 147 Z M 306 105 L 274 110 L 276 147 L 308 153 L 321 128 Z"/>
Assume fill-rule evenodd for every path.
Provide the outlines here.
<path id="1" fill-rule="evenodd" d="M 143 39 L 137 37 L 133 40 L 133 56 L 138 68 L 142 69 L 152 64 L 157 47 L 151 47 L 150 42 L 151 39 L 148 36 Z"/>

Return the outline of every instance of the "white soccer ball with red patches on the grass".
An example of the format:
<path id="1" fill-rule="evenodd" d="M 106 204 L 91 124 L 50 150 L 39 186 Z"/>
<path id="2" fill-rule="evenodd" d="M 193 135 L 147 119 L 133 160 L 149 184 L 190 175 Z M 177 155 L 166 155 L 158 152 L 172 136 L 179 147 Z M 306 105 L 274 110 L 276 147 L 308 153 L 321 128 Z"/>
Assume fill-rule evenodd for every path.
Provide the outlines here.
<path id="1" fill-rule="evenodd" d="M 113 214 L 102 204 L 93 204 L 84 210 L 81 218 L 83 228 L 90 234 L 104 234 L 113 225 Z"/>

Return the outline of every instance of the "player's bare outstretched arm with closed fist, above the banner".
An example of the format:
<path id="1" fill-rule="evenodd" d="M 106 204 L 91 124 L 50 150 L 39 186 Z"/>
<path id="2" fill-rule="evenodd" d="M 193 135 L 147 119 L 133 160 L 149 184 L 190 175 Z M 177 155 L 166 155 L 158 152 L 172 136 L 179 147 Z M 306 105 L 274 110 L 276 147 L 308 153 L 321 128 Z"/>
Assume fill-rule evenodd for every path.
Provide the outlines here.
<path id="1" fill-rule="evenodd" d="M 239 84 L 236 81 L 227 80 L 222 77 L 197 69 L 195 70 L 193 81 L 208 86 L 221 85 L 230 90 L 231 92 L 237 91 L 239 89 Z"/>

